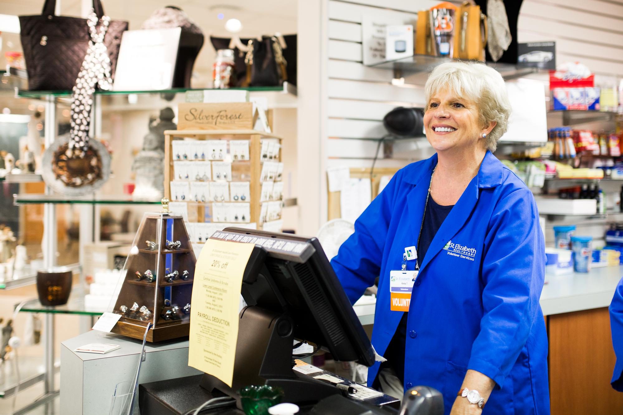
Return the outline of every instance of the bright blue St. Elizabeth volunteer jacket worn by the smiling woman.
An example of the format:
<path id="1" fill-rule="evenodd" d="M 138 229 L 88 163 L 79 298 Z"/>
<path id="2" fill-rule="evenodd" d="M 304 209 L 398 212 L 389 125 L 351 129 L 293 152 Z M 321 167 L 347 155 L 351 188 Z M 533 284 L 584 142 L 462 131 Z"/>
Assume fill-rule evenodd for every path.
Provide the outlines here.
<path id="1" fill-rule="evenodd" d="M 415 246 L 437 155 L 398 171 L 331 261 L 354 303 L 379 278 L 372 343 L 383 355 L 402 312 L 389 272 Z M 407 261 L 415 269 L 416 261 Z M 445 219 L 414 283 L 404 388 L 432 386 L 450 413 L 468 369 L 492 378 L 483 414 L 549 414 L 548 342 L 539 298 L 545 241 L 530 190 L 489 151 Z M 379 363 L 368 371 L 368 384 Z"/>

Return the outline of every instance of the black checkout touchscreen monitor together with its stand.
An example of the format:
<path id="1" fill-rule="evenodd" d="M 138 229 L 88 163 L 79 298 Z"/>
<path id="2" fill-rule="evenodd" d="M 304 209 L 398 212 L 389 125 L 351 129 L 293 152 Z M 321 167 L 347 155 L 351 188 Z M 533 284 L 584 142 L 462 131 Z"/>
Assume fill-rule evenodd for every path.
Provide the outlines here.
<path id="1" fill-rule="evenodd" d="M 206 374 L 204 388 L 234 396 L 249 384 L 272 384 L 284 390 L 287 402 L 340 393 L 292 370 L 295 340 L 330 351 L 338 361 L 374 364 L 374 349 L 318 239 L 237 227 L 211 239 L 255 247 L 242 279 L 247 306 L 240 312 L 232 387 Z"/>

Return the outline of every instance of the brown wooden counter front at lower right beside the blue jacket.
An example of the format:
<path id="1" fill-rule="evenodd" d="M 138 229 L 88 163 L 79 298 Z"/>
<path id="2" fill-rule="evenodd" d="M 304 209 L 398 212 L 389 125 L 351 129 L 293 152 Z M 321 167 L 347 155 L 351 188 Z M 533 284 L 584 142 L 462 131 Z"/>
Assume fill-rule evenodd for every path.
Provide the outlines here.
<path id="1" fill-rule="evenodd" d="M 623 393 L 610 386 L 616 357 L 607 308 L 550 315 L 552 415 L 623 414 Z"/>

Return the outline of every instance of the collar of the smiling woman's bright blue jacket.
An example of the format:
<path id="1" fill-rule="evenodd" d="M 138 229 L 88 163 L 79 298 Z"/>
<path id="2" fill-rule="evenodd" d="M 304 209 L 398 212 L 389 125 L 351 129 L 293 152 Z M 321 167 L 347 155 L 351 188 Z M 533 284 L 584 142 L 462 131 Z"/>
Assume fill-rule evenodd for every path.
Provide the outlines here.
<path id="1" fill-rule="evenodd" d="M 422 163 L 424 164 L 421 168 L 418 166 L 420 163 L 412 163 L 407 166 L 402 180 L 410 184 L 418 184 L 426 177 L 430 180 L 430 174 L 424 174 L 424 172 L 431 172 L 435 166 L 437 166 L 437 153 L 427 160 L 422 161 Z M 482 163 L 480 163 L 480 168 L 478 169 L 478 188 L 487 189 L 499 186 L 502 184 L 503 173 L 504 165 L 502 162 L 498 160 L 491 151 L 487 150 L 485 158 L 482 159 Z M 428 182 L 426 183 L 428 184 Z"/>

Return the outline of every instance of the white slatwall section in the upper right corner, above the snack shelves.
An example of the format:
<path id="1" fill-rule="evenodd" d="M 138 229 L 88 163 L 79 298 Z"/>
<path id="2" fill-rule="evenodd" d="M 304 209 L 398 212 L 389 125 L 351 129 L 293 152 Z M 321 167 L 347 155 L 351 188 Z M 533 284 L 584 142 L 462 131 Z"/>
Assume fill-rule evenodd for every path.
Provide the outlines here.
<path id="1" fill-rule="evenodd" d="M 592 72 L 623 77 L 623 3 L 610 0 L 525 0 L 518 41 L 556 41 L 556 63 L 581 62 Z"/>

